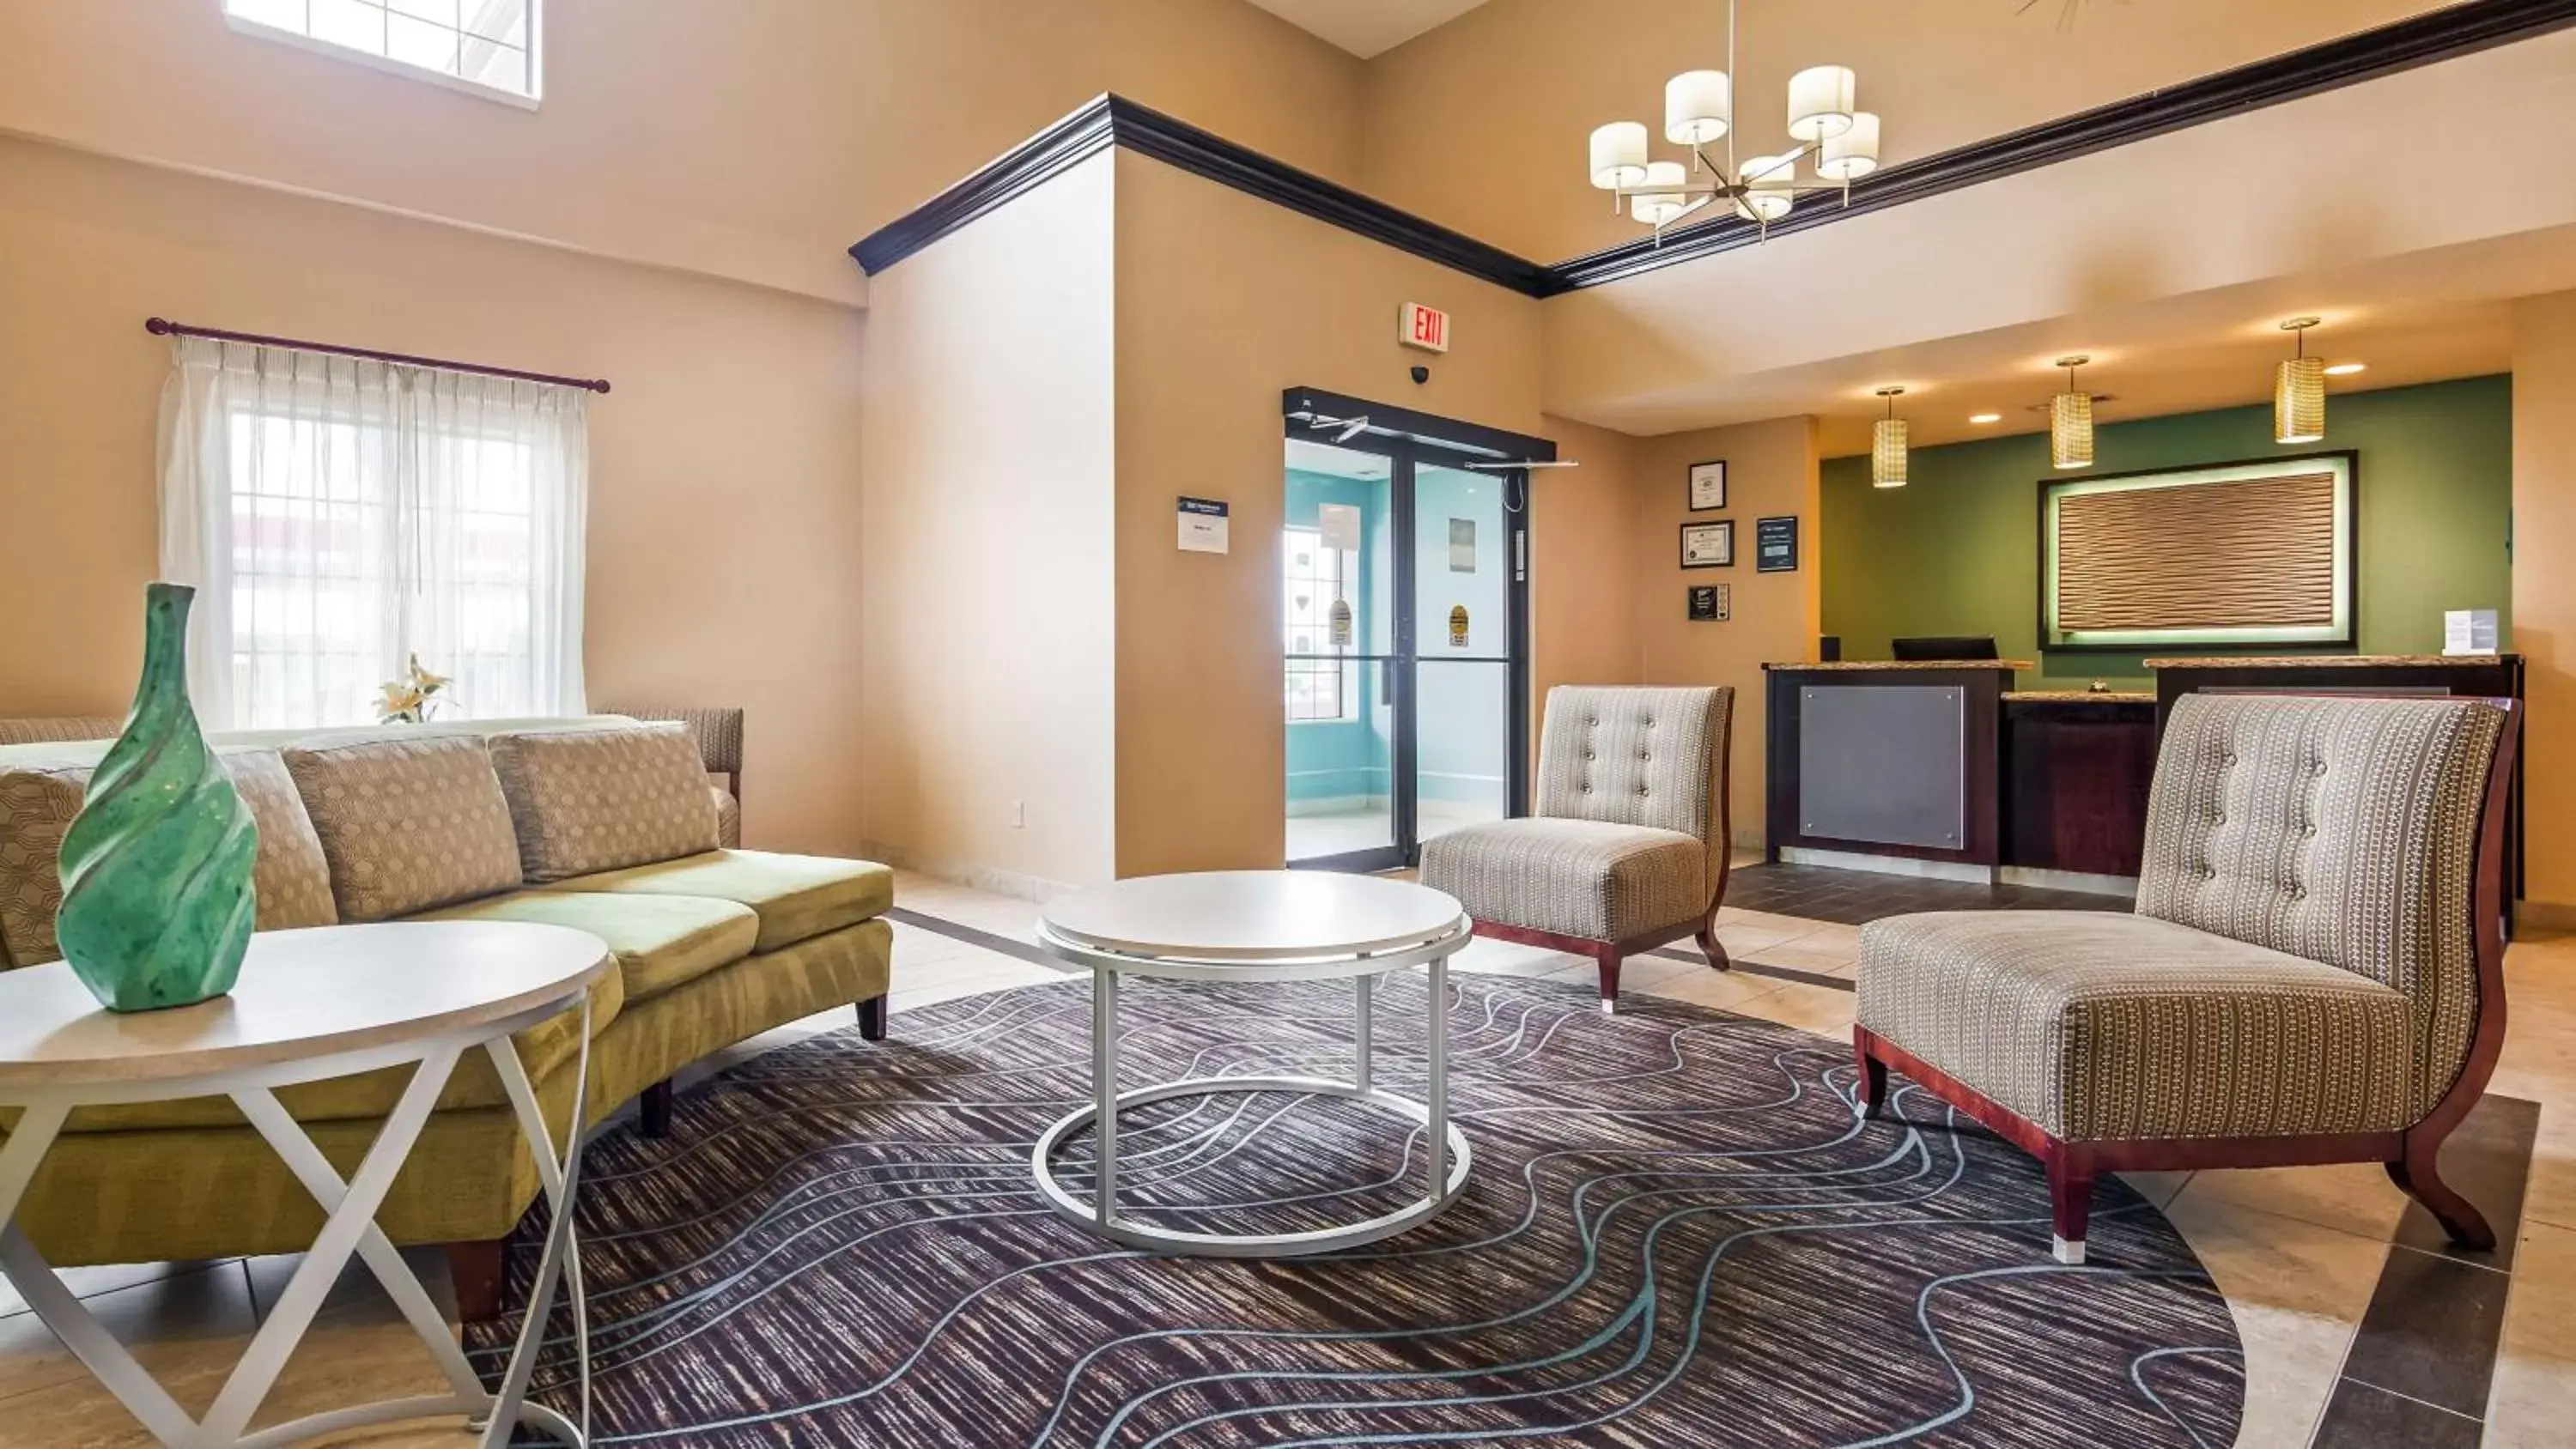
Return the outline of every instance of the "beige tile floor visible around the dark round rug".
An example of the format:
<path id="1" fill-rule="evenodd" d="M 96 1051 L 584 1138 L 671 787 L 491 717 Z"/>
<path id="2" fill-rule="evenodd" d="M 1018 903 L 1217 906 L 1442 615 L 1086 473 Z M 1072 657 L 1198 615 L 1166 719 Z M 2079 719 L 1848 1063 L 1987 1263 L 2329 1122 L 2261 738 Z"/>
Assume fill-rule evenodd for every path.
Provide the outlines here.
<path id="1" fill-rule="evenodd" d="M 907 914 L 953 921 L 1030 945 L 1036 909 L 943 880 L 907 875 L 896 885 Z M 1806 916 L 1728 909 L 1721 924 L 1728 952 L 1744 963 L 1821 978 L 1850 978 L 1857 929 Z M 1589 981 L 1592 965 L 1502 942 L 1476 942 L 1463 970 L 1561 975 Z M 2429 1444 L 2460 1441 L 2512 1449 L 2563 1446 L 2576 1418 L 2576 937 L 2517 945 L 2506 960 L 2512 1029 L 2494 1091 L 2540 1104 L 2522 1235 L 2504 1289 L 2501 1354 L 2476 1416 L 2372 1390 L 2372 1403 L 2336 1400 L 2336 1418 L 2403 1410 L 2372 1423 L 2403 1423 L 2409 1436 L 2372 1434 L 2367 1423 L 2329 1423 L 2326 1400 L 2347 1369 L 2354 1328 L 2380 1292 L 2393 1246 L 2403 1235 L 2406 1199 L 2370 1166 L 2275 1168 L 2233 1174 L 2146 1174 L 2138 1184 L 2164 1204 L 2208 1264 L 2236 1310 L 2246 1343 L 2249 1392 L 2244 1446 L 2298 1444 Z M 953 996 L 1054 981 L 1051 968 L 1005 950 L 963 942 L 917 924 L 896 924 L 894 1029 L 902 1011 Z M 1713 973 L 1698 960 L 1649 955 L 1628 963 L 1628 991 L 1698 1001 L 1767 1017 L 1808 1032 L 1844 1037 L 1852 996 L 1829 986 Z M 811 1017 L 742 1042 L 706 1071 L 768 1048 L 837 1029 L 848 1011 Z M 2427 1253 L 2429 1259 L 2429 1253 Z M 201 1410 L 258 1325 L 289 1259 L 85 1269 L 75 1287 L 106 1323 L 137 1343 L 139 1356 L 191 1410 Z M 435 1253 L 417 1256 L 422 1279 L 443 1292 Z M 2354 1369 L 2360 1372 L 2360 1369 Z M 438 1387 L 428 1354 L 407 1338 L 371 1282 L 353 1279 L 327 1307 L 304 1351 L 289 1364 L 263 1423 L 366 1395 Z M 2427 1436 L 2432 1423 L 2439 1434 Z M 52 1333 L 0 1287 L 0 1441 L 144 1446 L 149 1439 L 54 1343 Z M 469 1439 L 453 1426 L 417 1426 L 335 1439 L 379 1449 L 456 1449 Z"/>

